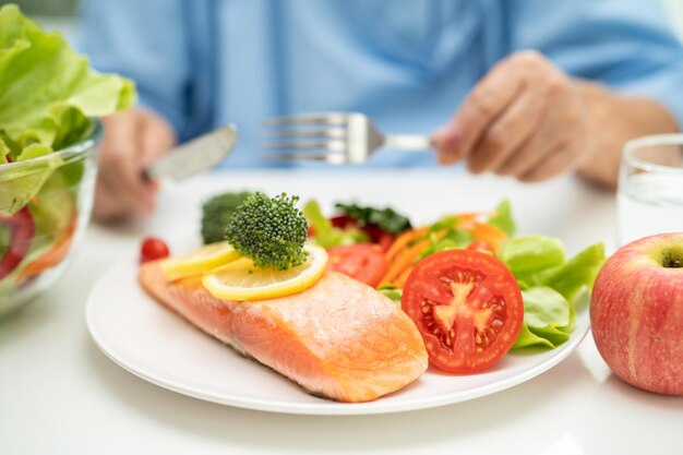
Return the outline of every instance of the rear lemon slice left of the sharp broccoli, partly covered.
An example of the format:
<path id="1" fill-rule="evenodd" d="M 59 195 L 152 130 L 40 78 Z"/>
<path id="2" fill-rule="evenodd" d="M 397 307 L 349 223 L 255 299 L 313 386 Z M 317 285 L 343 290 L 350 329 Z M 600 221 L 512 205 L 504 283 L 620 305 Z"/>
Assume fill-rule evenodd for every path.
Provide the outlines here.
<path id="1" fill-rule="evenodd" d="M 239 256 L 239 253 L 230 243 L 217 242 L 183 254 L 170 256 L 161 261 L 159 266 L 166 279 L 172 282 L 213 271 L 237 260 Z"/>

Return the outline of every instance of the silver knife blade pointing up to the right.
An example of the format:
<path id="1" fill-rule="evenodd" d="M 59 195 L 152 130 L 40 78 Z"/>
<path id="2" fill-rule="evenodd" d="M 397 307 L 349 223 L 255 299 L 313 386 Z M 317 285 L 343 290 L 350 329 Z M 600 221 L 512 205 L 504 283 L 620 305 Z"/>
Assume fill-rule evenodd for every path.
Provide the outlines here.
<path id="1" fill-rule="evenodd" d="M 237 127 L 227 124 L 179 145 L 149 166 L 144 177 L 182 180 L 220 163 L 237 142 Z"/>

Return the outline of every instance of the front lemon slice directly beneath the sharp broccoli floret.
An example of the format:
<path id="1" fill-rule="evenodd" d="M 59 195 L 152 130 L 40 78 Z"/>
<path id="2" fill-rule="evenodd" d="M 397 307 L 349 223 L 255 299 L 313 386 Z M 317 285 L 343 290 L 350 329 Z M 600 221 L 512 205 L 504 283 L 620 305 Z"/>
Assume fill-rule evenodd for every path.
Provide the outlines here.
<path id="1" fill-rule="evenodd" d="M 288 271 L 228 264 L 204 275 L 202 283 L 214 297 L 225 300 L 260 300 L 301 292 L 320 279 L 327 265 L 323 248 L 307 244 L 304 249 L 309 253 L 307 261 Z"/>

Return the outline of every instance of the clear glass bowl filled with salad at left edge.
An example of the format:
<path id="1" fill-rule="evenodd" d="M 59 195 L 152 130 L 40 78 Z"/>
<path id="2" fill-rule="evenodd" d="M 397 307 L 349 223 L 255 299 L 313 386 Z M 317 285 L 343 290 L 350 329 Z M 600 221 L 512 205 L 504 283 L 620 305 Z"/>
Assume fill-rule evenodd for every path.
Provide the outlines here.
<path id="1" fill-rule="evenodd" d="M 83 240 L 101 125 L 47 155 L 0 165 L 0 315 L 47 289 Z"/>

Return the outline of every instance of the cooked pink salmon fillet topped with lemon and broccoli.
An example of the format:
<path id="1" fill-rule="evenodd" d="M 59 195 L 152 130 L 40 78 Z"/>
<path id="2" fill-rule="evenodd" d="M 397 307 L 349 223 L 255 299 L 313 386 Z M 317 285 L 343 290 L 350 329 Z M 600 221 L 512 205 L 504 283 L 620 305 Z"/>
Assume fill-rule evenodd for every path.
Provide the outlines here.
<path id="1" fill-rule="evenodd" d="M 369 402 L 427 370 L 412 321 L 375 289 L 336 272 L 303 292 L 251 302 L 217 299 L 199 277 L 169 283 L 155 262 L 141 266 L 139 279 L 160 303 L 314 395 Z"/>

